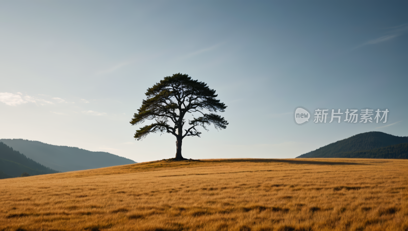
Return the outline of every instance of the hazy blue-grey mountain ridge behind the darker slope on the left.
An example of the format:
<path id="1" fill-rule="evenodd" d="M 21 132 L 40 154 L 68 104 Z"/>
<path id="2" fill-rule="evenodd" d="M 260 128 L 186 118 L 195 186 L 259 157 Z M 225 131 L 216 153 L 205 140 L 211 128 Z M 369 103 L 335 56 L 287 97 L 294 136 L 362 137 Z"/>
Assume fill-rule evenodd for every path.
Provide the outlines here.
<path id="1" fill-rule="evenodd" d="M 108 152 L 92 152 L 75 147 L 44 144 L 39 141 L 1 139 L 0 142 L 7 144 L 14 150 L 24 153 L 27 155 L 27 157 L 48 168 L 61 172 L 136 163 L 131 159 L 117 156 Z M 31 175 L 30 172 L 28 173 Z"/>

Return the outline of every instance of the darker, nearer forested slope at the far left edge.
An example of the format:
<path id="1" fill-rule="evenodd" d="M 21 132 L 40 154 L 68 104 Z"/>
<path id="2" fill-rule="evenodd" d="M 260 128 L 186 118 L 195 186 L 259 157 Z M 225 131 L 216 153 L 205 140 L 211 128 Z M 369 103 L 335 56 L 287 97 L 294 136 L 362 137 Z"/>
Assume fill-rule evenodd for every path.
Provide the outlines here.
<path id="1" fill-rule="evenodd" d="M 0 179 L 17 177 L 23 172 L 41 175 L 58 171 L 47 168 L 0 142 Z"/>

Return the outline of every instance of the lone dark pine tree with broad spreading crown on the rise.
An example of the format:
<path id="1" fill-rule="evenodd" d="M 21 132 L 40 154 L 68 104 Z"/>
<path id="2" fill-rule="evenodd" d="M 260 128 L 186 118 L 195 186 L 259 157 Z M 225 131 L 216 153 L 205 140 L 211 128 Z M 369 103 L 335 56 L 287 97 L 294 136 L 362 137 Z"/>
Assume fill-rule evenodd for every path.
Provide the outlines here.
<path id="1" fill-rule="evenodd" d="M 206 83 L 193 80 L 188 75 L 174 74 L 165 77 L 160 83 L 147 89 L 146 100 L 135 113 L 130 122 L 132 125 L 141 124 L 146 120 L 154 120 L 154 123 L 136 130 L 135 138 L 139 141 L 149 133 L 170 133 L 176 137 L 176 159 L 184 159 L 182 156 L 182 141 L 186 136 L 198 136 L 201 132 L 197 127 L 205 130 L 207 125 L 214 124 L 217 130 L 225 129 L 228 125 L 223 117 L 213 112 L 223 112 L 226 108 L 224 103 L 216 99 L 214 89 L 210 89 Z M 209 113 L 204 113 L 206 109 Z M 187 113 L 192 113 L 192 120 L 186 123 Z M 194 114 L 198 114 L 197 118 Z M 170 125 L 172 122 L 174 125 Z"/>

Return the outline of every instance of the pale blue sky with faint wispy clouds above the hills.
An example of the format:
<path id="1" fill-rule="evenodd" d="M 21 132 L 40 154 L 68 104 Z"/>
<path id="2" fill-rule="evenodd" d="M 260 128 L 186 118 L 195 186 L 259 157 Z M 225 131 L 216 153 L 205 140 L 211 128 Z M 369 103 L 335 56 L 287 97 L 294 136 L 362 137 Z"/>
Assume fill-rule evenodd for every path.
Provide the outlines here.
<path id="1" fill-rule="evenodd" d="M 129 122 L 146 89 L 176 73 L 227 106 L 227 128 L 186 137 L 186 158 L 294 158 L 368 131 L 407 136 L 407 10 L 406 1 L 1 1 L 0 138 L 172 158 L 173 135 L 136 141 Z M 312 117 L 389 113 L 387 123 L 299 126 L 299 106 Z"/>

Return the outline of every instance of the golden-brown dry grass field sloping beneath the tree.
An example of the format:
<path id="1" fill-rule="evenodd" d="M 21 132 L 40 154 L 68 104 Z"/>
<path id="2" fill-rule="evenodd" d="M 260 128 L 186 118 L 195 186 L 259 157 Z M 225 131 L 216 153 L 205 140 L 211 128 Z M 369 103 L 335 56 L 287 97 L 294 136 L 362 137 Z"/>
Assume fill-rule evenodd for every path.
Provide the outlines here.
<path id="1" fill-rule="evenodd" d="M 0 180 L 0 230 L 408 230 L 408 160 L 161 160 Z"/>

